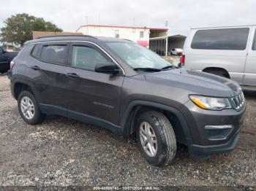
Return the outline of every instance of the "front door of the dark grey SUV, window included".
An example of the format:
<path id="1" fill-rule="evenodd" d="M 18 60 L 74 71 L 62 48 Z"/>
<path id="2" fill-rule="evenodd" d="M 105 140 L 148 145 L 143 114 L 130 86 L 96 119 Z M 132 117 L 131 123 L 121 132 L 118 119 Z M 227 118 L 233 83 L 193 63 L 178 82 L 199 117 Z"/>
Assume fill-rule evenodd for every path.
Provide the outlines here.
<path id="1" fill-rule="evenodd" d="M 109 62 L 113 61 L 96 45 L 72 43 L 69 50 L 70 66 L 66 70 L 70 117 L 97 117 L 118 125 L 124 75 L 94 71 L 97 63 Z"/>

